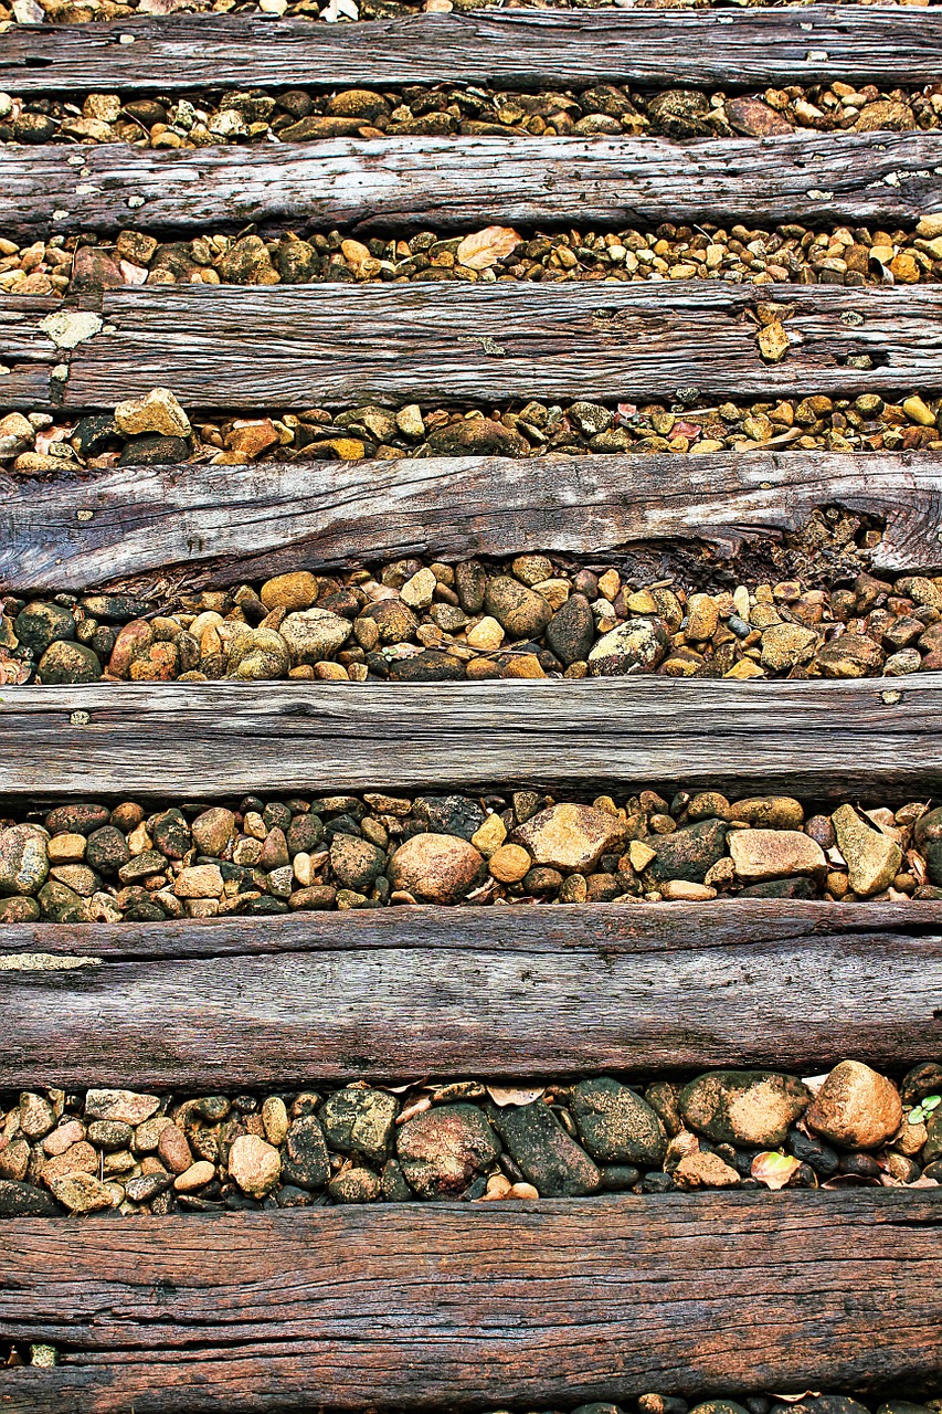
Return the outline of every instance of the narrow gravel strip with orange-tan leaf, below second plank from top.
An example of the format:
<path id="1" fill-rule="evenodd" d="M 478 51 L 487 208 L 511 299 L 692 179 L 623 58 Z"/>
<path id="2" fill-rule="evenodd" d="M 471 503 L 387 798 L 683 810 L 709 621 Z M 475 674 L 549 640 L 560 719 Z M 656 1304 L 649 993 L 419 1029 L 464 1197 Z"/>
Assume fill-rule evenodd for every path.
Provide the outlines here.
<path id="1" fill-rule="evenodd" d="M 727 284 L 925 284 L 942 279 L 942 218 L 914 230 L 796 222 L 764 230 L 663 223 L 655 230 L 532 230 L 487 226 L 446 236 L 358 240 L 339 230 L 279 233 L 255 228 L 161 242 L 140 230 L 117 240 L 93 232 L 30 245 L 0 238 L 0 291 L 66 294 L 126 284 L 321 284 L 413 280 L 587 281 L 723 280 Z"/>

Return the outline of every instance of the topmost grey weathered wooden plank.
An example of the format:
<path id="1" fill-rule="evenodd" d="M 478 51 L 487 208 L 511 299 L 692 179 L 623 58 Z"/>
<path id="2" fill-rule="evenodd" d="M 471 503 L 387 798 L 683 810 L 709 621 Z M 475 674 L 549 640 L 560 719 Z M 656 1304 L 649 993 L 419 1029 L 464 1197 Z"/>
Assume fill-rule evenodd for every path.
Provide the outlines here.
<path id="1" fill-rule="evenodd" d="M 133 42 L 129 42 L 129 37 Z M 0 35 L 0 88 L 173 93 L 201 86 L 632 83 L 931 83 L 942 21 L 900 7 L 419 14 L 356 25 L 267 16 L 132 17 L 14 25 Z"/>

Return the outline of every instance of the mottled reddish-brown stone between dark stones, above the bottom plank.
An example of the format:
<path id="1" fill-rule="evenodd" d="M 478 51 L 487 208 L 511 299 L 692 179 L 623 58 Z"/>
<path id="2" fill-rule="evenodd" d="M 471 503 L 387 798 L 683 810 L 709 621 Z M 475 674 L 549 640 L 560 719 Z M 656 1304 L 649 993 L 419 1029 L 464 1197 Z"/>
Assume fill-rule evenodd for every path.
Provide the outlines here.
<path id="1" fill-rule="evenodd" d="M 399 1130 L 396 1152 L 406 1182 L 419 1198 L 460 1198 L 475 1174 L 488 1168 L 501 1144 L 474 1104 L 438 1104 Z"/>

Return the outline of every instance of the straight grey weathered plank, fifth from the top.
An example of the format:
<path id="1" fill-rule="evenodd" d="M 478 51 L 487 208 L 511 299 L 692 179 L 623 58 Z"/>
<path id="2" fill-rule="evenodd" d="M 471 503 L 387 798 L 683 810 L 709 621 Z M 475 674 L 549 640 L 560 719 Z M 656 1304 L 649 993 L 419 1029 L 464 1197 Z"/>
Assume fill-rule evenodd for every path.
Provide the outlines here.
<path id="1" fill-rule="evenodd" d="M 881 797 L 942 786 L 942 677 L 8 687 L 0 795 L 683 783 Z M 74 715 L 76 714 L 78 715 Z"/>

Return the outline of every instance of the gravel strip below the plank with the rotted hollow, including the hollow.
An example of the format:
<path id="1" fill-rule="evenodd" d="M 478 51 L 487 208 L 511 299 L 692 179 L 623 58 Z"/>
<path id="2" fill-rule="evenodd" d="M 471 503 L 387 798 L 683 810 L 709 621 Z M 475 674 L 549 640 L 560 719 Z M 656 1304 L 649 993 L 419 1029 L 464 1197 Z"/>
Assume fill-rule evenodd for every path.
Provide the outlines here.
<path id="1" fill-rule="evenodd" d="M 861 549 L 857 542 L 868 549 Z M 813 578 L 737 583 L 707 551 L 668 580 L 564 554 L 395 560 L 232 590 L 0 597 L 0 682 L 461 682 L 621 677 L 904 677 L 942 670 L 942 577 L 878 578 L 880 543 L 840 510 L 769 560 Z M 761 557 L 762 546 L 751 554 Z M 813 571 L 812 571 L 813 573 Z M 699 584 L 697 584 L 699 581 Z M 707 584 L 711 592 L 700 588 Z M 165 581 L 164 581 L 165 584 Z"/>

